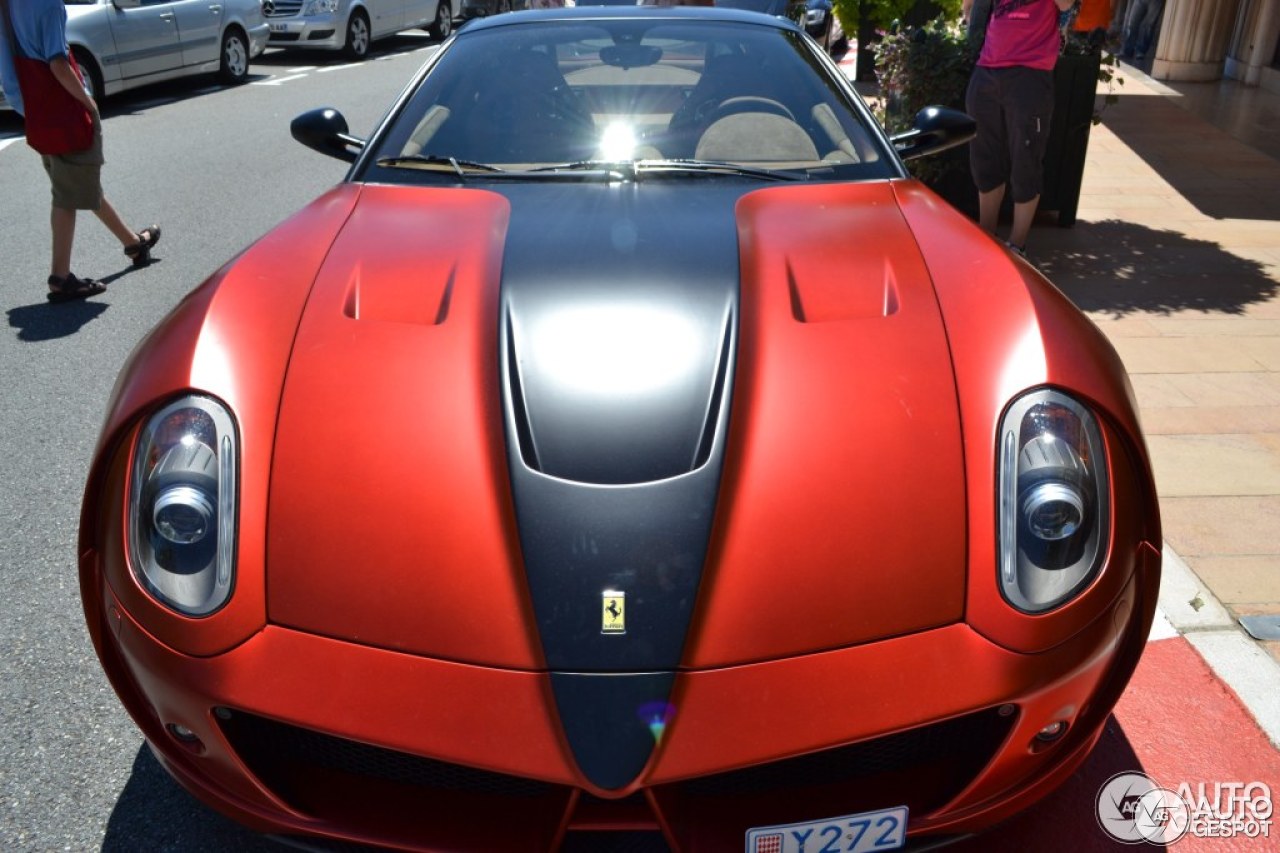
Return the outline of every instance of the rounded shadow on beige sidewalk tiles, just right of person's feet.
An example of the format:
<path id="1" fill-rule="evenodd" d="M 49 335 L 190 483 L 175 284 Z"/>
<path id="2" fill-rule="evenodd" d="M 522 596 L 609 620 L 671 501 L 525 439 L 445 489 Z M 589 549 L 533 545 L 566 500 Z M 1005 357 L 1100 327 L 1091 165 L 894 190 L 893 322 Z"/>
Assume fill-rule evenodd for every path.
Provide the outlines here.
<path id="1" fill-rule="evenodd" d="M 1084 311 L 1243 314 L 1276 297 L 1266 268 L 1217 243 L 1108 219 L 1032 234 L 1036 265 Z"/>

